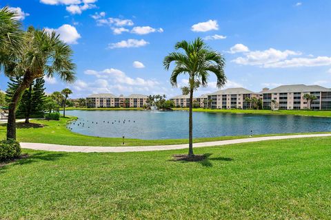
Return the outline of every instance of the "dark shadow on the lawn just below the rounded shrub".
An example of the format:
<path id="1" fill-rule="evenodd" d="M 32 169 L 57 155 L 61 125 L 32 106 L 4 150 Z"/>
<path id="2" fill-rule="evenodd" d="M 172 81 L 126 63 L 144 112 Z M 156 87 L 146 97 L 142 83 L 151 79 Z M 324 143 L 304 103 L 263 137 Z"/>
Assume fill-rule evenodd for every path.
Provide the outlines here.
<path id="1" fill-rule="evenodd" d="M 26 164 L 33 164 L 41 161 L 56 161 L 57 159 L 60 159 L 61 157 L 66 157 L 66 153 L 33 153 L 31 155 L 25 155 L 24 157 L 21 157 L 19 159 L 14 159 L 9 162 L 4 162 L 0 166 L 0 174 L 4 173 L 5 170 L 8 170 L 10 167 L 13 166 L 22 166 Z"/>

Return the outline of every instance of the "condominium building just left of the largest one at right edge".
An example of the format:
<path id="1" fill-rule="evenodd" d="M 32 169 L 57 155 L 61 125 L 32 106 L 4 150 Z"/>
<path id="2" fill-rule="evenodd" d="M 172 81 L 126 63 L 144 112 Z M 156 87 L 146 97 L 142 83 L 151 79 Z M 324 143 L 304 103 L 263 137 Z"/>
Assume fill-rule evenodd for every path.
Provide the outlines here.
<path id="1" fill-rule="evenodd" d="M 249 109 L 250 103 L 245 98 L 259 98 L 259 94 L 244 88 L 229 88 L 208 94 L 212 109 Z"/>

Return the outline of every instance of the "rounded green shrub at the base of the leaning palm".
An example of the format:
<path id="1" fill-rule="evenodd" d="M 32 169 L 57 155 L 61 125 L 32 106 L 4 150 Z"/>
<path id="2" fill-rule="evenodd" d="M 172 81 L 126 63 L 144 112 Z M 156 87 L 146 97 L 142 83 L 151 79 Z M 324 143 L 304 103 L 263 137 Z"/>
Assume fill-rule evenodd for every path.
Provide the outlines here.
<path id="1" fill-rule="evenodd" d="M 21 155 L 21 146 L 16 140 L 0 141 L 0 162 L 14 159 Z"/>

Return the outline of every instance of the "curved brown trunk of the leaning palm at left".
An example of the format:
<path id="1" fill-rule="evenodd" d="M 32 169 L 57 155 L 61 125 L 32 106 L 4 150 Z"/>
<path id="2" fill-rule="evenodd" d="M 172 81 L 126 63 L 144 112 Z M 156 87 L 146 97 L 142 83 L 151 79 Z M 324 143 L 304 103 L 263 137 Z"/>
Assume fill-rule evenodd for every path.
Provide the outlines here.
<path id="1" fill-rule="evenodd" d="M 30 86 L 33 78 L 26 73 L 23 78 L 22 83 L 17 87 L 17 90 L 12 96 L 12 100 L 9 103 L 8 107 L 8 122 L 7 122 L 7 140 L 14 139 L 16 140 L 16 108 L 17 103 L 21 100 L 23 92 Z"/>

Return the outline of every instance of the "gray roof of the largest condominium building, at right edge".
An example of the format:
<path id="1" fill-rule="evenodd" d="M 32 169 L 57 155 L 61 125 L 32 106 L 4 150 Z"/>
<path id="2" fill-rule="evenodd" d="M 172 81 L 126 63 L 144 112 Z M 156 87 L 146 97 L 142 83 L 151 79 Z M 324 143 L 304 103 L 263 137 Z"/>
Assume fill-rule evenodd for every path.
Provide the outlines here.
<path id="1" fill-rule="evenodd" d="M 268 91 L 261 91 L 262 94 L 277 94 L 285 92 L 312 92 L 312 91 L 331 91 L 331 89 L 319 85 L 281 85 Z"/>

